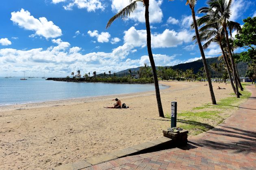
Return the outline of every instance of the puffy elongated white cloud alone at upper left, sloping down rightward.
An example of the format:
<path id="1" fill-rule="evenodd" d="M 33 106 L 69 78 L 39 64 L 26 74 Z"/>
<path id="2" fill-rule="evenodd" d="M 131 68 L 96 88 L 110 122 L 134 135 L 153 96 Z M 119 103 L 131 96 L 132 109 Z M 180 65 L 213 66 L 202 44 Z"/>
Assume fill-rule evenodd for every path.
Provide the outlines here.
<path id="1" fill-rule="evenodd" d="M 33 35 L 43 36 L 45 38 L 56 38 L 62 35 L 61 29 L 54 25 L 52 21 L 48 21 L 45 17 L 36 19 L 30 15 L 29 11 L 25 11 L 24 9 L 12 12 L 11 21 L 18 24 L 21 28 L 35 31 Z"/>

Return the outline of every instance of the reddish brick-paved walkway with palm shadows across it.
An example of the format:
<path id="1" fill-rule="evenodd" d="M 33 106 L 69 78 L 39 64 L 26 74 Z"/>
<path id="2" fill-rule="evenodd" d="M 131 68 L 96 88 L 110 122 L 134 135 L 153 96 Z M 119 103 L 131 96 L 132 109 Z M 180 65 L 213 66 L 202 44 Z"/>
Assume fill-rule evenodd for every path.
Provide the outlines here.
<path id="1" fill-rule="evenodd" d="M 187 147 L 115 159 L 87 170 L 256 169 L 256 88 L 239 110 L 206 133 L 189 138 Z"/>

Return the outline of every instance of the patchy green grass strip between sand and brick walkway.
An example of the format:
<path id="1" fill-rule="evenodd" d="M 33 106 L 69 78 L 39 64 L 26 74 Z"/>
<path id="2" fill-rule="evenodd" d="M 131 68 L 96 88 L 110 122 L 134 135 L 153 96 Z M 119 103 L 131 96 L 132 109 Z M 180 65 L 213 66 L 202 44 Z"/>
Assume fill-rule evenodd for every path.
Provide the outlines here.
<path id="1" fill-rule="evenodd" d="M 177 127 L 188 130 L 189 136 L 194 136 L 206 132 L 219 123 L 222 123 L 225 119 L 230 117 L 235 110 L 238 110 L 239 104 L 245 102 L 245 100 L 251 96 L 251 93 L 246 89 L 246 85 L 248 85 L 248 83 L 242 83 L 244 91 L 240 91 L 243 95 L 240 96 L 240 98 L 236 98 L 234 94 L 231 94 L 232 97 L 217 101 L 217 105 L 205 104 L 200 107 L 195 107 L 190 111 L 178 113 Z M 167 113 L 165 117 L 171 119 L 170 113 Z"/>

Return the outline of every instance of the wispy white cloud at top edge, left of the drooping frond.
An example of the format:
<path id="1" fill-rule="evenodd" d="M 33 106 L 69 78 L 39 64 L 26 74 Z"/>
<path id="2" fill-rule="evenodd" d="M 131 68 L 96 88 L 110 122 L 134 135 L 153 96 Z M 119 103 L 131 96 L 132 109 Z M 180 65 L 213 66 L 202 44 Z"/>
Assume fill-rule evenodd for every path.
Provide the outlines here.
<path id="1" fill-rule="evenodd" d="M 56 1 L 64 2 L 65 0 Z M 77 6 L 80 9 L 86 8 L 88 12 L 95 12 L 97 9 L 104 10 L 105 8 L 100 0 L 69 0 L 69 4 L 63 6 L 63 8 L 65 10 L 72 10 L 74 6 Z"/>

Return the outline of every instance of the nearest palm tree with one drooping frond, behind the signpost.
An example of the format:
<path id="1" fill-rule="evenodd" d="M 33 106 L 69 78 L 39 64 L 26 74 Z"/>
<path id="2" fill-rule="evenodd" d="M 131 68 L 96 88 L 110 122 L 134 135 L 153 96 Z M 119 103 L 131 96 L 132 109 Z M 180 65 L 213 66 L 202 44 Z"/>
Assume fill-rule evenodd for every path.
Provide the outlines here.
<path id="1" fill-rule="evenodd" d="M 158 85 L 158 79 L 156 75 L 156 66 L 151 50 L 151 33 L 150 33 L 150 22 L 149 22 L 149 0 L 130 0 L 130 4 L 126 7 L 124 7 L 121 11 L 119 11 L 116 15 L 114 15 L 111 19 L 109 19 L 106 28 L 108 28 L 115 19 L 120 18 L 126 19 L 128 16 L 130 16 L 130 13 L 134 12 L 137 8 L 137 2 L 143 2 L 143 5 L 145 6 L 145 25 L 146 25 L 146 31 L 147 31 L 147 48 L 148 48 L 148 57 L 150 60 L 150 64 L 152 67 L 152 73 L 153 73 L 153 79 L 154 79 L 154 85 L 156 90 L 156 101 L 158 106 L 158 113 L 159 117 L 165 117 L 163 113 L 163 107 L 161 102 L 161 96 L 160 96 L 160 90 Z"/>

